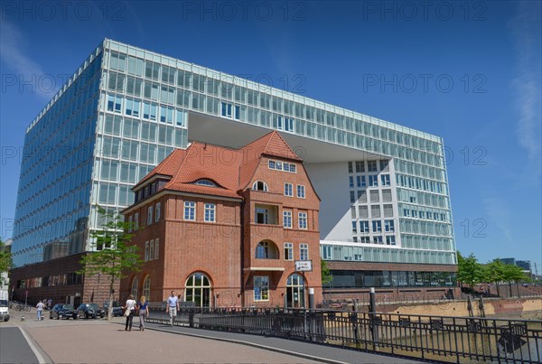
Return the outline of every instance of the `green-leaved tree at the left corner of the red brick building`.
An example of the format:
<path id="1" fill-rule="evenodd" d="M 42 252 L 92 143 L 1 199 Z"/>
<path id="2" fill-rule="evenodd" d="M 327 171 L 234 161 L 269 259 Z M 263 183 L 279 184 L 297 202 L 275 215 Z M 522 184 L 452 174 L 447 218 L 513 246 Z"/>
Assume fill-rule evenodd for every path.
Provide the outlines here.
<path id="1" fill-rule="evenodd" d="M 103 228 L 90 232 L 90 245 L 97 251 L 89 253 L 80 260 L 79 275 L 105 275 L 109 283 L 109 306 L 107 320 L 113 314 L 113 287 L 126 277 L 125 273 L 138 272 L 143 260 L 137 254 L 137 247 L 130 245 L 133 234 L 128 231 L 131 226 L 117 212 L 107 213 L 98 208 L 99 219 Z"/>

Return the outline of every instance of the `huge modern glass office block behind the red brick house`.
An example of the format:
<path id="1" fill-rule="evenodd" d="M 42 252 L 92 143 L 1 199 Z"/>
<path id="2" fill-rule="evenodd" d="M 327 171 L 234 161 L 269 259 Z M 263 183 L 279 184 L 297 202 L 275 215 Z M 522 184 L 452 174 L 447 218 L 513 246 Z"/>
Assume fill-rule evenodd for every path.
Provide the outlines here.
<path id="1" fill-rule="evenodd" d="M 304 160 L 322 199 L 333 294 L 455 285 L 442 138 L 106 39 L 27 127 L 15 295 L 101 300 L 100 277 L 75 274 L 98 206 L 131 205 L 130 188 L 174 148 L 236 148 L 269 130 Z"/>

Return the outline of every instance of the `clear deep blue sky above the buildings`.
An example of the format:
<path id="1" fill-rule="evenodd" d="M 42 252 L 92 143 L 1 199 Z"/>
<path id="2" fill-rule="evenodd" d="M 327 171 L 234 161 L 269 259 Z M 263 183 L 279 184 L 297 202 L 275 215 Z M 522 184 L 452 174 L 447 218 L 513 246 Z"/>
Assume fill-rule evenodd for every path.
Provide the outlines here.
<path id="1" fill-rule="evenodd" d="M 457 247 L 540 273 L 540 4 L 3 2 L 0 237 L 25 127 L 108 37 L 444 137 Z"/>

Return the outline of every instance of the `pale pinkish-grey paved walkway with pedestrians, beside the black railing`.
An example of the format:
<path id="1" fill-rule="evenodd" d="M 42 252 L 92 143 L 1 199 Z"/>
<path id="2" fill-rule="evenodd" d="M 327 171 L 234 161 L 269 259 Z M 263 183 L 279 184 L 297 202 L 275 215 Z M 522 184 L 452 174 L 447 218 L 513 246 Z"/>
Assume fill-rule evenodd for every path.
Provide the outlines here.
<path id="1" fill-rule="evenodd" d="M 146 323 L 124 330 L 124 318 L 105 320 L 50 320 L 38 322 L 33 314 L 14 314 L 0 324 L 19 327 L 29 334 L 42 355 L 40 362 L 56 363 L 412 363 L 357 350 L 332 348 L 302 341 L 207 331 Z M 24 361 L 24 360 L 23 360 Z"/>

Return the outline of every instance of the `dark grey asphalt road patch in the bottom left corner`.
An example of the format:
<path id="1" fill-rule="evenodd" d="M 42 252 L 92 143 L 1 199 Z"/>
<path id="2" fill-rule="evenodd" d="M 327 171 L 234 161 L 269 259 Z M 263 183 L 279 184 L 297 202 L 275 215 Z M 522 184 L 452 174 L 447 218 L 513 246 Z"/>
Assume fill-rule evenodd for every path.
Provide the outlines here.
<path id="1" fill-rule="evenodd" d="M 38 359 L 18 327 L 0 328 L 0 363 L 37 363 Z"/>

